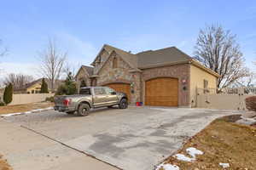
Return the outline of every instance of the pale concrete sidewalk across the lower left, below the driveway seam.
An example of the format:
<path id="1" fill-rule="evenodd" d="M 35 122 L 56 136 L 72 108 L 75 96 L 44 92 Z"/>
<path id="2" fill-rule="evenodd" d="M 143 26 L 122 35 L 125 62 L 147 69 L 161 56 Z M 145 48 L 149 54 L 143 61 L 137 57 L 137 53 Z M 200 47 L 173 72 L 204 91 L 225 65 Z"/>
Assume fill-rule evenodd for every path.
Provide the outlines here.
<path id="1" fill-rule="evenodd" d="M 107 163 L 2 119 L 0 119 L 0 134 L 0 152 L 14 170 L 116 169 Z"/>

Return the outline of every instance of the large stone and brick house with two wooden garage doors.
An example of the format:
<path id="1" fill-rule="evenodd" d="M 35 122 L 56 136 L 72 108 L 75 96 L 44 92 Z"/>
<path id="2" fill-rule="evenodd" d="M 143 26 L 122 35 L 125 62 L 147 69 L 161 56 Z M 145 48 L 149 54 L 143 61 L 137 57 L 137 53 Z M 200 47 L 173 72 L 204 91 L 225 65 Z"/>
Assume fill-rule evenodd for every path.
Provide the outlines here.
<path id="1" fill-rule="evenodd" d="M 104 45 L 91 65 L 79 69 L 79 84 L 108 86 L 145 105 L 195 106 L 196 88 L 216 88 L 219 77 L 176 47 L 131 54 Z"/>

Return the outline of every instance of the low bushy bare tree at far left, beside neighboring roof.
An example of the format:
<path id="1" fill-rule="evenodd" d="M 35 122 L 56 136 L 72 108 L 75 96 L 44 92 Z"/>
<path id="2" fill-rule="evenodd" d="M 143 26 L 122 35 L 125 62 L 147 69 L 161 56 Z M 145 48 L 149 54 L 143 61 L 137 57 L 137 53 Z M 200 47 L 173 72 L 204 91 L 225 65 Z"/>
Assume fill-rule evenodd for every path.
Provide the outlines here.
<path id="1" fill-rule="evenodd" d="M 8 85 L 12 83 L 14 89 L 24 88 L 27 83 L 32 82 L 34 78 L 32 76 L 17 74 L 14 73 L 9 74 L 7 77 L 3 79 L 3 84 Z"/>

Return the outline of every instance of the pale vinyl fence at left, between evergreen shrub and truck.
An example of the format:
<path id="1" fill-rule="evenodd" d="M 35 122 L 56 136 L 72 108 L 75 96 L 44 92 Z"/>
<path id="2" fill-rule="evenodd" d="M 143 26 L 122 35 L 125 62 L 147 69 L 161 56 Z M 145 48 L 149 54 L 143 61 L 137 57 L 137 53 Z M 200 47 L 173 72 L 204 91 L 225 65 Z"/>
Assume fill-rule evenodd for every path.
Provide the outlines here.
<path id="1" fill-rule="evenodd" d="M 54 94 L 14 94 L 13 100 L 9 105 L 29 104 L 34 102 L 44 101 L 47 97 Z"/>

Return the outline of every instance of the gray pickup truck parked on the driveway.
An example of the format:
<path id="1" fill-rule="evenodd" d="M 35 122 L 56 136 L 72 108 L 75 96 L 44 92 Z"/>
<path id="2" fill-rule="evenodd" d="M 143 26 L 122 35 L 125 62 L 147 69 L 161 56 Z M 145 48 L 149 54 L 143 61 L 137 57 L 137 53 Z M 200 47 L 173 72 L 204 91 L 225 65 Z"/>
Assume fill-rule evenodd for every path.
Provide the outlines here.
<path id="1" fill-rule="evenodd" d="M 128 98 L 124 93 L 114 91 L 108 87 L 80 88 L 79 94 L 55 96 L 55 111 L 87 116 L 90 109 L 98 107 L 112 107 L 119 105 L 119 109 L 128 107 Z"/>

